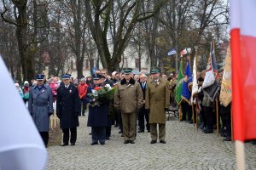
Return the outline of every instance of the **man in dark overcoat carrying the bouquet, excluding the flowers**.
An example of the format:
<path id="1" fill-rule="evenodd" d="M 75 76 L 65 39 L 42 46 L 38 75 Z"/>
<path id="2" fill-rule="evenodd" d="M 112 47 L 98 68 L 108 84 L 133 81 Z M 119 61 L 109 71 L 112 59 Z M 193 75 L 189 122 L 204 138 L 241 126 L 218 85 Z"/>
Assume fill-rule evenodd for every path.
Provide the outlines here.
<path id="1" fill-rule="evenodd" d="M 106 127 L 108 126 L 108 111 L 109 102 L 108 100 L 103 101 L 96 105 L 96 100 L 91 99 L 89 94 L 96 95 L 96 87 L 104 87 L 104 83 L 101 81 L 102 76 L 96 75 L 93 77 L 94 85 L 88 88 L 86 101 L 89 105 L 89 115 L 87 127 L 91 127 L 91 145 L 105 144 L 106 140 Z"/>

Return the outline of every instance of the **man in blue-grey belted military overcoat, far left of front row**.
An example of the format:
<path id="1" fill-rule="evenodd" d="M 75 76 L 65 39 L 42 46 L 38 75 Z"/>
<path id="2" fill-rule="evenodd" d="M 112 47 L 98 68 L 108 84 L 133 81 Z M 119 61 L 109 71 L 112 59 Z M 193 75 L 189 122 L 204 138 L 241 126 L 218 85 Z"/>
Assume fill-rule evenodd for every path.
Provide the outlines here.
<path id="1" fill-rule="evenodd" d="M 37 75 L 37 86 L 29 91 L 28 111 L 38 127 L 38 131 L 47 147 L 49 141 L 49 116 L 53 113 L 51 88 L 44 84 L 44 75 Z"/>

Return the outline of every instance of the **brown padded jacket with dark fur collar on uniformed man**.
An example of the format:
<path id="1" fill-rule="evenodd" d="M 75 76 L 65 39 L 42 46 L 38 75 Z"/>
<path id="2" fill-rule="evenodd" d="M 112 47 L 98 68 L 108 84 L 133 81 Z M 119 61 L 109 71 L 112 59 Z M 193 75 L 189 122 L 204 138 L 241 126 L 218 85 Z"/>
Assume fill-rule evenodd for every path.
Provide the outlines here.
<path id="1" fill-rule="evenodd" d="M 143 106 L 143 90 L 138 82 L 125 79 L 119 83 L 114 94 L 113 106 L 121 113 L 135 113 Z"/>

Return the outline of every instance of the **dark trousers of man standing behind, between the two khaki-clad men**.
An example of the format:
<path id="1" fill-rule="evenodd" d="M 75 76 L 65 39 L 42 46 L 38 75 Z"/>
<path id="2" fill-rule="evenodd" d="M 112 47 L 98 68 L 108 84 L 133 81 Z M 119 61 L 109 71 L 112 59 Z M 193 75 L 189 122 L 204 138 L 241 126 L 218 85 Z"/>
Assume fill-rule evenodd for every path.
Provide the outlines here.
<path id="1" fill-rule="evenodd" d="M 147 130 L 150 131 L 149 112 L 145 109 L 145 105 L 143 105 L 142 109 L 138 112 L 138 125 L 141 131 L 144 131 L 145 129 L 145 119 L 147 122 Z"/>

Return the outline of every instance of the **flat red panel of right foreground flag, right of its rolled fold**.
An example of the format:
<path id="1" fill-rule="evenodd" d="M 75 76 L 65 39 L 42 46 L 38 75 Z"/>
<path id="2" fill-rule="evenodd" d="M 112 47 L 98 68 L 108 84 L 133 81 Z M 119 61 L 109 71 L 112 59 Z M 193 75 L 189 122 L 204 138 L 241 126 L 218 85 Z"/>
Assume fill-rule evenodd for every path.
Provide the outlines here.
<path id="1" fill-rule="evenodd" d="M 241 36 L 245 139 L 256 139 L 256 37 Z"/>

